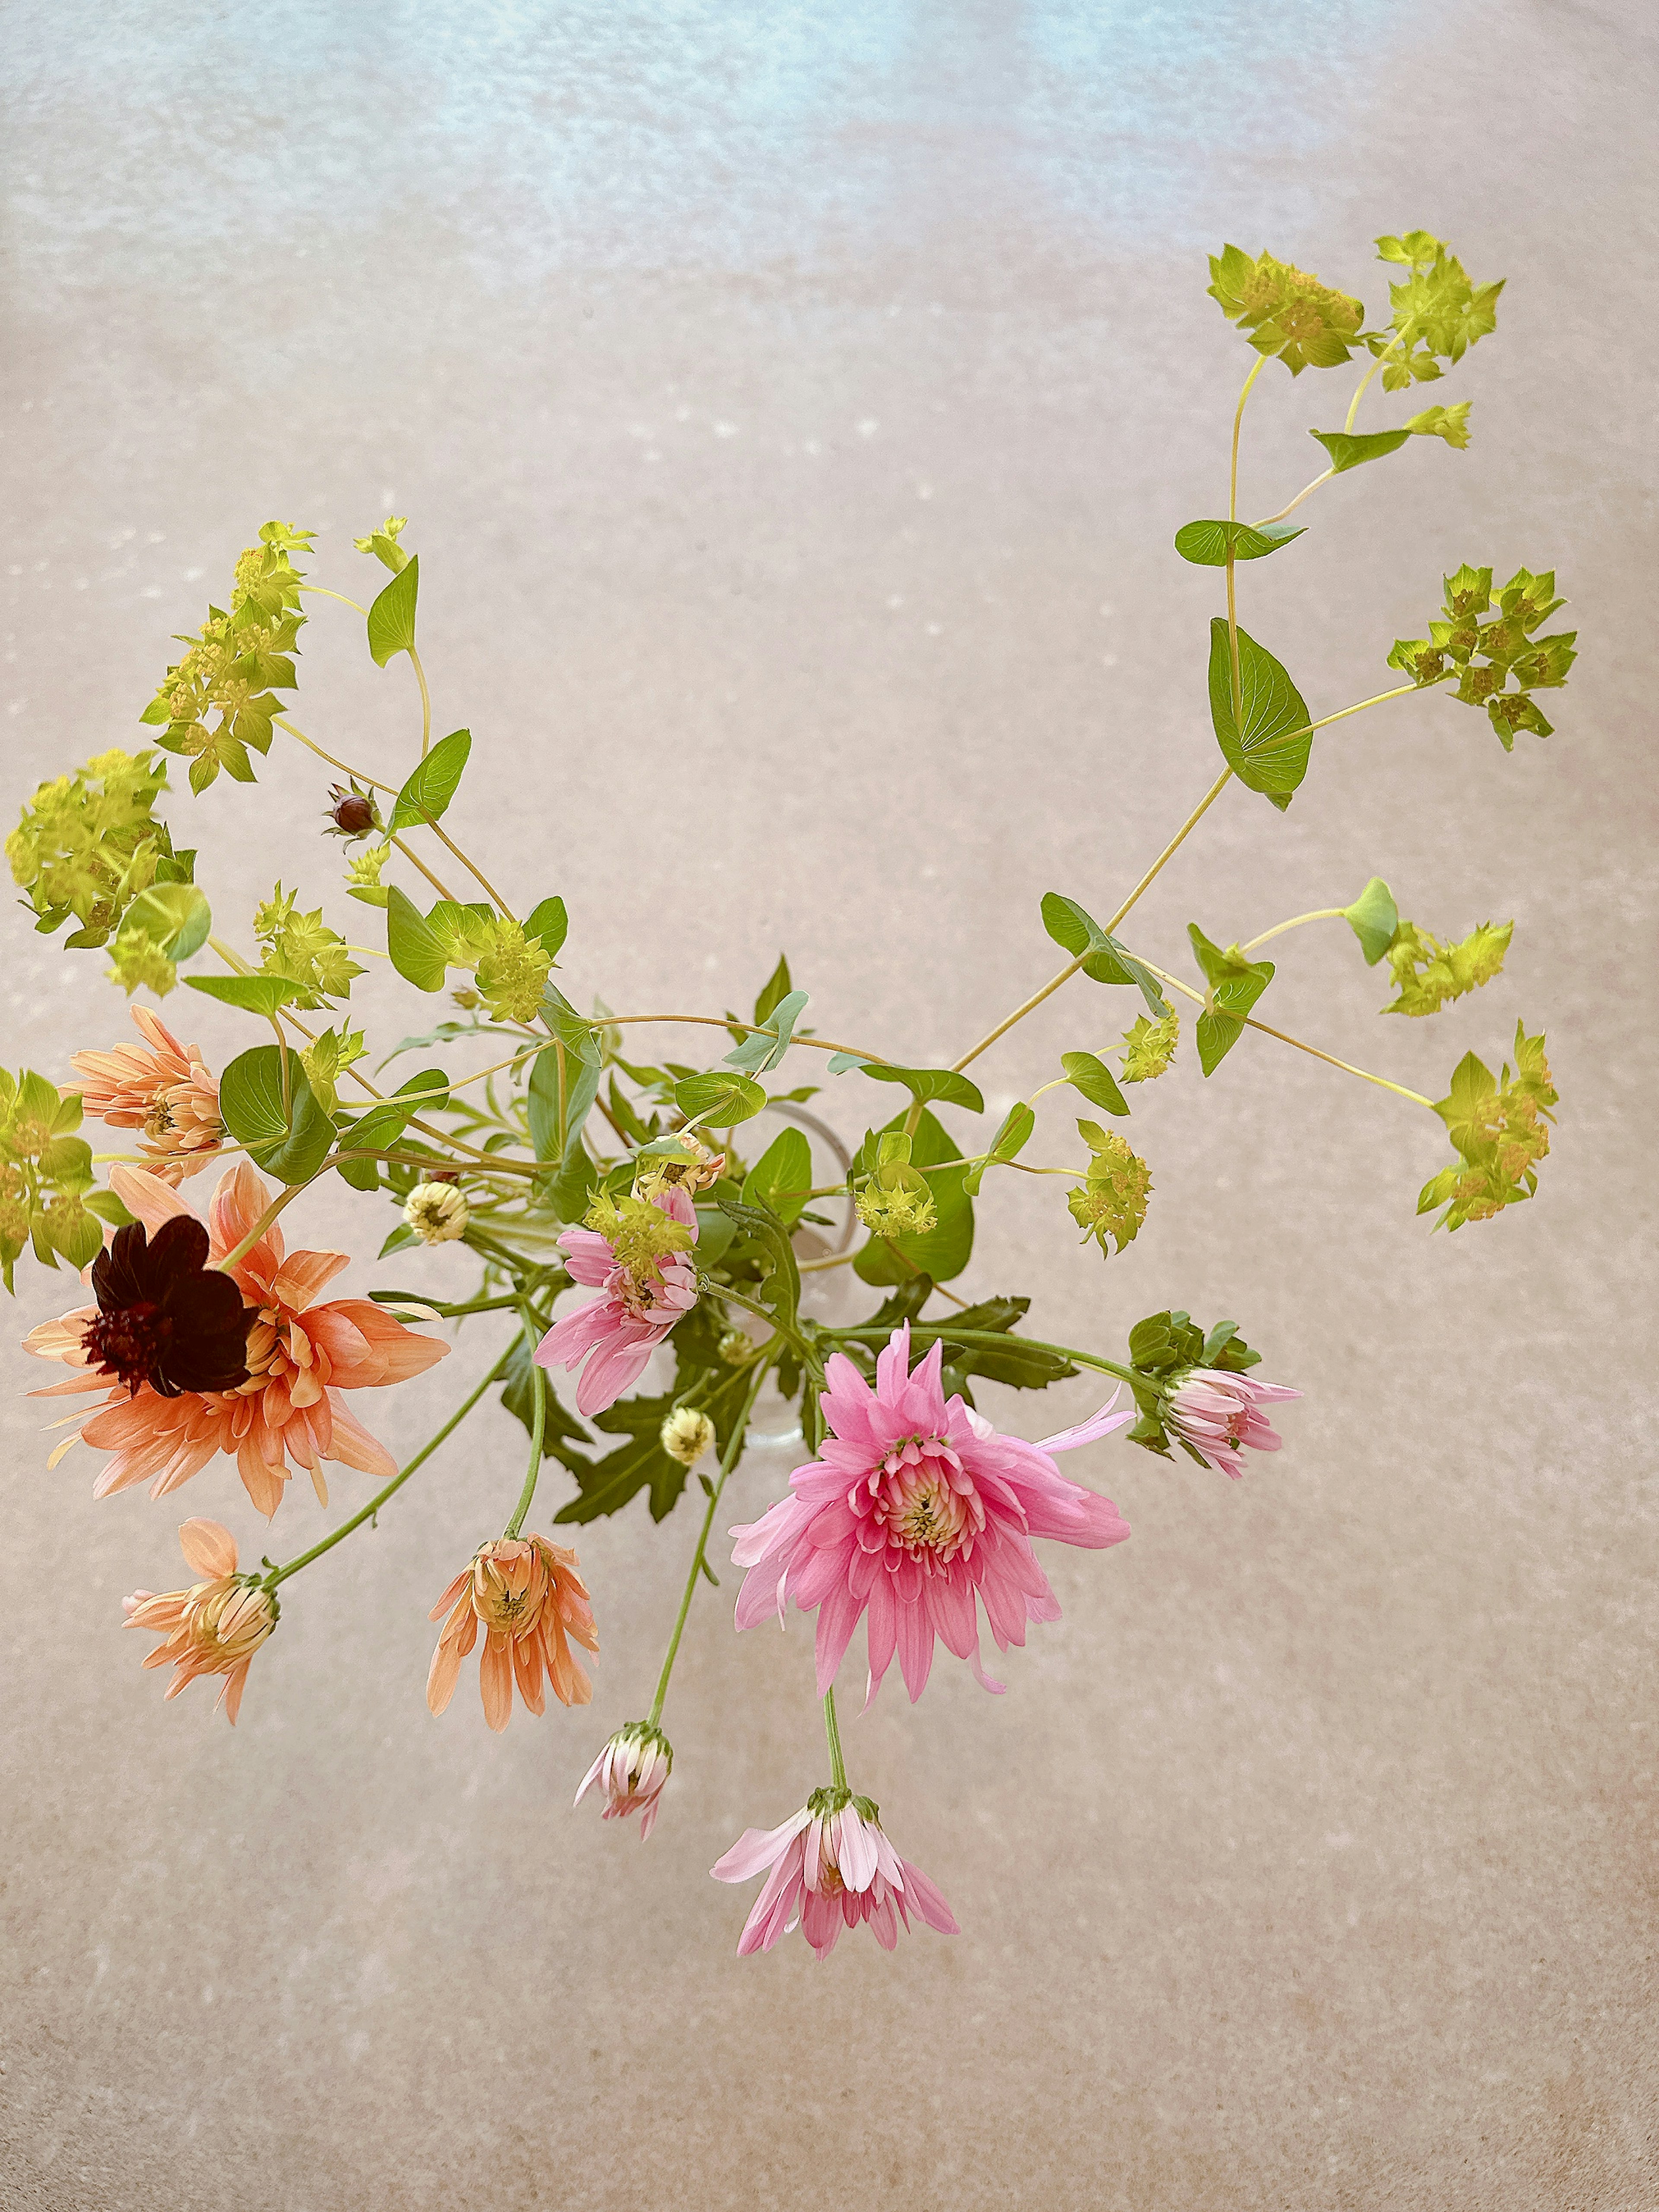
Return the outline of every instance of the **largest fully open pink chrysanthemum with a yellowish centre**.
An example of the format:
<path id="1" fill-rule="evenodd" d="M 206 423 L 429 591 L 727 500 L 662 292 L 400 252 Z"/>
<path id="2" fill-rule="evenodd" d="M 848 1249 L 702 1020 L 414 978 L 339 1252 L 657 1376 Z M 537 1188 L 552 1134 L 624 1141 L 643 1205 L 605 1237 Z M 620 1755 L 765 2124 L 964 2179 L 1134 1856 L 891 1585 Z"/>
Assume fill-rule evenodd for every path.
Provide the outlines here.
<path id="1" fill-rule="evenodd" d="M 1029 1444 L 1000 1436 L 940 1387 L 940 1345 L 909 1371 L 909 1323 L 876 1360 L 876 1389 L 834 1354 L 823 1411 L 823 1458 L 796 1467 L 790 1495 L 737 1537 L 748 1568 L 737 1626 L 754 1628 L 787 1599 L 818 1613 L 818 1694 L 836 1677 L 852 1632 L 867 1617 L 869 1694 L 898 1652 L 911 1701 L 933 1663 L 933 1637 L 980 1666 L 980 1604 L 1000 1650 L 1024 1644 L 1026 1621 L 1060 1619 L 1033 1537 L 1099 1551 L 1128 1524 L 1110 1500 L 1068 1482 L 1053 1451 L 1108 1436 L 1133 1413 L 1102 1407 L 1077 1429 Z"/>

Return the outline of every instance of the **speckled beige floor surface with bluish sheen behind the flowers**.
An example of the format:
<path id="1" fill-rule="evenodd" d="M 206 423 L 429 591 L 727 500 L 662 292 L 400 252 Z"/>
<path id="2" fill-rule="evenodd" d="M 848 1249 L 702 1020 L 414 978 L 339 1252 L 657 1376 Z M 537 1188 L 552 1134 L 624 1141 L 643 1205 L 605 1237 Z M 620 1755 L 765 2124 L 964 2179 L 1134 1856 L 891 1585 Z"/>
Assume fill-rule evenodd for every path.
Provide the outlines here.
<path id="1" fill-rule="evenodd" d="M 1652 2205 L 1646 11 L 18 0 L 0 46 L 11 803 L 137 739 L 259 520 L 323 524 L 323 580 L 361 591 L 349 535 L 392 504 L 438 714 L 480 741 L 456 821 L 564 891 L 573 993 L 719 1009 L 785 945 L 827 1033 L 947 1057 L 1051 971 L 1037 896 L 1108 909 L 1212 772 L 1214 586 L 1168 540 L 1223 493 L 1223 237 L 1367 305 L 1378 230 L 1511 276 L 1442 387 L 1471 451 L 1347 478 L 1245 573 L 1316 712 L 1380 688 L 1464 555 L 1555 562 L 1584 628 L 1548 745 L 1387 708 L 1285 821 L 1230 792 L 1135 925 L 1170 958 L 1192 918 L 1254 933 L 1371 872 L 1429 927 L 1515 914 L 1506 975 L 1436 1024 L 1378 1024 L 1336 931 L 1290 942 L 1274 1004 L 1436 1095 L 1548 1022 L 1533 1208 L 1429 1239 L 1436 1126 L 1259 1037 L 1137 1102 L 1126 1256 L 1077 1252 L 1044 1186 L 987 1192 L 973 1290 L 1102 1345 L 1237 1312 L 1307 1402 L 1243 1484 L 1097 1447 L 1135 1537 L 1051 1557 L 1064 1619 L 1006 1699 L 945 1666 L 849 1728 L 956 1940 L 732 1955 L 745 1900 L 706 1867 L 821 1743 L 807 1635 L 739 1641 L 730 1577 L 650 1847 L 571 1814 L 648 1701 L 684 1517 L 584 1540 L 591 1712 L 434 1723 L 425 1610 L 518 1484 L 480 1416 L 292 1584 L 232 1734 L 119 1635 L 179 1513 L 95 1506 L 84 1455 L 46 1475 L 13 1396 L 0 2201 Z M 1248 511 L 1312 473 L 1336 383 L 1267 374 Z M 392 763 L 407 670 L 336 615 L 301 723 Z M 327 885 L 316 805 L 292 750 L 197 805 L 223 916 L 296 858 Z M 119 1033 L 91 958 L 71 989 L 0 929 L 7 1060 Z M 991 1106 L 1124 1020 L 1075 984 L 984 1062 Z M 234 1051 L 228 1015 L 195 1033 Z M 292 1219 L 380 1237 L 343 1197 Z M 22 1270 L 15 1334 L 62 1303 Z M 372 1425 L 411 1449 L 489 1352 Z M 734 1517 L 785 1467 L 757 1453 Z M 184 1504 L 263 1548 L 228 1469 Z M 276 1548 L 316 1528 L 294 1495 Z"/>

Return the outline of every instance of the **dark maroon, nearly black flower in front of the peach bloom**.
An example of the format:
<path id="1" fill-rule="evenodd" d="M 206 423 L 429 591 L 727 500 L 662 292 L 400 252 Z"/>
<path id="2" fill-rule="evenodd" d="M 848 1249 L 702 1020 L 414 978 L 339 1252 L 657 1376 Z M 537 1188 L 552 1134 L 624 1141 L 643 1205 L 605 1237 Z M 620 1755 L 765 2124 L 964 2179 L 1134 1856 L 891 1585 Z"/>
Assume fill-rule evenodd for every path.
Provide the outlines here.
<path id="1" fill-rule="evenodd" d="M 137 1398 L 234 1389 L 248 1380 L 248 1307 L 234 1279 L 208 1267 L 208 1232 L 175 1214 L 148 1237 L 128 1221 L 93 1261 L 97 1318 L 82 1345 L 93 1363 Z"/>

